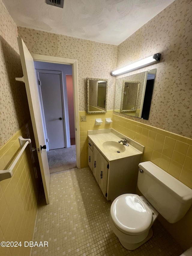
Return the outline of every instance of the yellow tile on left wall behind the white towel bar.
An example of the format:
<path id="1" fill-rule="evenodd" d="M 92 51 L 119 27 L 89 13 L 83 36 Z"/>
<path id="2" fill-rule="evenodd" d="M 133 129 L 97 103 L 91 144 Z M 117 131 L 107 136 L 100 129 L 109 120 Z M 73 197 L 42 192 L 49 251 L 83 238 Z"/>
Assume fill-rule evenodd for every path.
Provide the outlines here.
<path id="1" fill-rule="evenodd" d="M 27 138 L 26 125 L 0 148 L 0 170 L 6 170 L 20 150 L 18 137 Z M 0 181 L 0 241 L 22 242 L 21 247 L 0 247 L 0 255 L 30 255 L 23 241 L 33 241 L 37 215 L 37 169 L 30 145 L 22 153 L 10 179 Z"/>

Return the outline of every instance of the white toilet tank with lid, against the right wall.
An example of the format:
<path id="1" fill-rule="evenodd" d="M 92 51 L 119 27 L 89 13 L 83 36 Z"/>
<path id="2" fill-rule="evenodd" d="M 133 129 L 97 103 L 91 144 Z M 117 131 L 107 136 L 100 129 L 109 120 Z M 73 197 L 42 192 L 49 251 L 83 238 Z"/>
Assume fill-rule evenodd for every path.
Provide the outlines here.
<path id="1" fill-rule="evenodd" d="M 153 164 L 139 164 L 137 186 L 154 208 L 170 223 L 179 221 L 192 204 L 192 189 Z"/>

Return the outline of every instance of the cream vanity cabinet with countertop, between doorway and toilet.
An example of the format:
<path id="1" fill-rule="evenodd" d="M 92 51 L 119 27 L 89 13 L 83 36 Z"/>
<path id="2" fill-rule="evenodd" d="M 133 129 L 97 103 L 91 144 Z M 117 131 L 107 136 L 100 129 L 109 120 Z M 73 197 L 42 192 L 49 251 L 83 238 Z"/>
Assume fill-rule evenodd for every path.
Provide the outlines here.
<path id="1" fill-rule="evenodd" d="M 88 165 L 98 182 L 107 200 L 113 201 L 121 194 L 135 194 L 137 187 L 138 164 L 141 162 L 142 152 L 134 149 L 131 145 L 126 148 L 129 156 L 108 153 L 100 145 L 102 134 L 89 135 Z M 109 135 L 104 134 L 104 139 Z M 108 140 L 110 140 L 109 137 Z M 118 137 L 116 141 L 118 141 Z M 143 147 L 143 146 L 142 146 Z M 144 148 L 144 147 L 143 147 Z M 104 151 L 104 152 L 103 152 Z M 113 157 L 115 154 L 116 158 Z M 123 153 L 122 153 L 123 154 Z M 110 160 L 111 156 L 111 160 Z M 119 157 L 119 158 L 117 158 Z"/>

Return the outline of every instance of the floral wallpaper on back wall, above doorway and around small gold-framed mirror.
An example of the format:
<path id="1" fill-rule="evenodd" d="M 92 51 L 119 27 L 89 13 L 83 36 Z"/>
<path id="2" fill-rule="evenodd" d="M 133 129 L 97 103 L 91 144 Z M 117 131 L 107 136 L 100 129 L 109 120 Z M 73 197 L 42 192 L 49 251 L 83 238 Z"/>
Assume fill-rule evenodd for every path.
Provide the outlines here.
<path id="1" fill-rule="evenodd" d="M 31 53 L 77 59 L 79 111 L 86 110 L 87 77 L 108 79 L 107 108 L 108 110 L 113 109 L 115 77 L 112 77 L 110 72 L 116 68 L 116 45 L 23 27 L 18 27 L 18 35 L 22 37 Z"/>

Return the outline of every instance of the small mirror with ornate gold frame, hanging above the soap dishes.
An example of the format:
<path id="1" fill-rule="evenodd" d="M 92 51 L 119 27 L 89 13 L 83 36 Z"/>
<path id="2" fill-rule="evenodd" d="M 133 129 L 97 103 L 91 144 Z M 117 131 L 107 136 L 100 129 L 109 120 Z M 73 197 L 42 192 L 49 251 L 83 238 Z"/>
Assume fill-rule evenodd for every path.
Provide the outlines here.
<path id="1" fill-rule="evenodd" d="M 103 107 L 99 107 L 97 106 L 91 106 L 90 105 L 90 82 L 94 81 L 104 81 L 106 82 L 106 90 L 105 90 L 105 108 Z M 93 85 L 94 86 L 94 85 Z M 97 91 L 97 102 L 98 102 L 98 88 L 95 87 L 95 91 Z M 98 113 L 106 113 L 107 112 L 107 92 L 108 92 L 108 79 L 102 79 L 102 78 L 89 78 L 87 77 L 87 113 L 88 114 L 98 114 Z M 95 95 L 93 95 L 93 97 L 95 97 Z M 98 109 L 98 110 L 93 110 L 90 111 L 90 107 L 92 107 L 93 109 Z"/>

